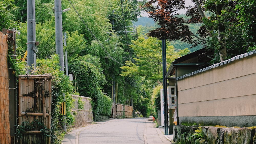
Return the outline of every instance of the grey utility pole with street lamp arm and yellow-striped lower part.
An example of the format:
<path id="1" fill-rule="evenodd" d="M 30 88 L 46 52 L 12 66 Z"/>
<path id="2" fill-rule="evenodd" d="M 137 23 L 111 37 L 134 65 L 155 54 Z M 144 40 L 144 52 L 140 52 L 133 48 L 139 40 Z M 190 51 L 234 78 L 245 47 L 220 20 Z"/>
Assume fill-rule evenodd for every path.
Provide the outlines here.
<path id="1" fill-rule="evenodd" d="M 56 54 L 60 58 L 60 71 L 64 71 L 64 55 L 63 55 L 63 36 L 62 36 L 62 10 L 61 0 L 54 0 L 55 7 L 55 37 L 56 37 Z M 63 101 L 65 101 L 65 93 L 63 93 Z M 65 104 L 64 104 L 65 105 Z M 63 115 L 63 129 L 67 132 L 66 115 Z"/>

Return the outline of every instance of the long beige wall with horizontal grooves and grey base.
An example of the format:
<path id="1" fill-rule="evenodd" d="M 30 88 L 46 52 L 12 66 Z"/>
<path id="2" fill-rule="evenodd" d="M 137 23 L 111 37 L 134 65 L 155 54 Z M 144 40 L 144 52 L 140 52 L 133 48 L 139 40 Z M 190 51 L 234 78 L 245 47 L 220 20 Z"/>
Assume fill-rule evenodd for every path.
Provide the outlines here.
<path id="1" fill-rule="evenodd" d="M 256 125 L 256 54 L 177 78 L 181 122 Z"/>

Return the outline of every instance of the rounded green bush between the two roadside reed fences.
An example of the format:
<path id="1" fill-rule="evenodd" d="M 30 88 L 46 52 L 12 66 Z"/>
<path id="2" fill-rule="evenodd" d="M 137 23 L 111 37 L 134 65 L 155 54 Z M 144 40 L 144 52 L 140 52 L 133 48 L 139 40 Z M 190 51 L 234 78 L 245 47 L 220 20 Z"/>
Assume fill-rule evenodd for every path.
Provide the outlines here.
<path id="1" fill-rule="evenodd" d="M 98 107 L 96 109 L 97 115 L 111 115 L 112 100 L 107 95 L 101 93 L 97 101 Z"/>

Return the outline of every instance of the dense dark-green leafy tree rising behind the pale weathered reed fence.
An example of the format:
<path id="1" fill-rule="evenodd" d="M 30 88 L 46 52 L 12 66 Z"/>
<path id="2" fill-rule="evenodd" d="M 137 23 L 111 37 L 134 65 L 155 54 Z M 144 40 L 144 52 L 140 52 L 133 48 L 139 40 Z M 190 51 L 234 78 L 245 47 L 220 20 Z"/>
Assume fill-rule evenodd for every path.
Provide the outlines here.
<path id="1" fill-rule="evenodd" d="M 102 93 L 101 85 L 106 82 L 100 66 L 99 58 L 91 55 L 78 57 L 69 64 L 69 73 L 74 76 L 76 92 L 81 96 L 92 98 L 93 114 L 97 110 L 98 98 Z"/>

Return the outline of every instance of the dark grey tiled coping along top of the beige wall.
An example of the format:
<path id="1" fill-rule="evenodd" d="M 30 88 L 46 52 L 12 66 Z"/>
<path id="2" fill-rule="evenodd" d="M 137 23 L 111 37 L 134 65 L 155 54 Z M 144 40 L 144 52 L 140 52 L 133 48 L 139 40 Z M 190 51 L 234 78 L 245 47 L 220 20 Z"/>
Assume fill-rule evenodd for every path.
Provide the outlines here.
<path id="1" fill-rule="evenodd" d="M 241 54 L 241 55 L 237 55 L 237 56 L 235 56 L 235 57 L 232 57 L 232 58 L 230 58 L 230 59 L 227 59 L 226 61 L 223 61 L 223 62 L 214 64 L 214 65 L 208 66 L 208 67 L 203 68 L 203 69 L 199 69 L 199 70 L 197 70 L 197 71 L 194 71 L 194 72 L 192 72 L 192 73 L 189 73 L 189 74 L 186 74 L 186 75 L 183 75 L 183 76 L 180 76 L 180 77 L 177 77 L 176 80 L 183 79 L 183 78 L 186 78 L 186 77 L 195 75 L 195 74 L 197 74 L 197 73 L 201 73 L 201 72 L 203 72 L 203 71 L 206 71 L 206 70 L 209 70 L 209 69 L 218 67 L 218 66 L 222 66 L 222 65 L 228 64 L 228 63 L 230 63 L 230 62 L 232 62 L 232 61 L 235 61 L 235 60 L 237 60 L 237 59 L 241 59 L 241 58 L 247 57 L 247 56 L 252 55 L 252 54 L 256 54 L 256 50 L 251 51 L 251 52 L 248 52 L 248 53 L 244 53 L 244 54 Z"/>

